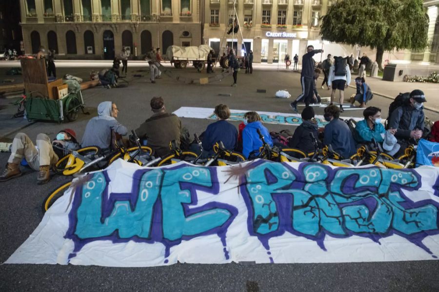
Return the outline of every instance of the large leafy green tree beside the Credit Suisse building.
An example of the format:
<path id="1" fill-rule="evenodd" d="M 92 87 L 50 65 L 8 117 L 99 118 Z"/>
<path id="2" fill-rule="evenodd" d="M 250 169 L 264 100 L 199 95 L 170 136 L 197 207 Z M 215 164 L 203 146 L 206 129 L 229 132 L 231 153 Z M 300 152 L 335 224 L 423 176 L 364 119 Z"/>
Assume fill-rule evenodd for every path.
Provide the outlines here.
<path id="1" fill-rule="evenodd" d="M 427 46 L 428 16 L 422 0 L 339 0 L 322 17 L 322 39 L 384 51 L 422 50 Z"/>

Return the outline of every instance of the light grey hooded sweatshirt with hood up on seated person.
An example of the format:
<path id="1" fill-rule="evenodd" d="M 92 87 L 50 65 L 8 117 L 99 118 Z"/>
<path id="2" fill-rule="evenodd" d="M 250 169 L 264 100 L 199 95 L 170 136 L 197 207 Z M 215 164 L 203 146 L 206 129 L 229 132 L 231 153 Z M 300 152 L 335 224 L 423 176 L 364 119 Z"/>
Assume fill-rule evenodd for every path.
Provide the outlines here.
<path id="1" fill-rule="evenodd" d="M 114 131 L 122 136 L 128 130 L 122 126 L 114 117 L 111 117 L 111 101 L 104 101 L 98 105 L 98 117 L 91 118 L 85 127 L 81 146 L 98 146 L 105 150 L 110 148 L 111 133 Z"/>

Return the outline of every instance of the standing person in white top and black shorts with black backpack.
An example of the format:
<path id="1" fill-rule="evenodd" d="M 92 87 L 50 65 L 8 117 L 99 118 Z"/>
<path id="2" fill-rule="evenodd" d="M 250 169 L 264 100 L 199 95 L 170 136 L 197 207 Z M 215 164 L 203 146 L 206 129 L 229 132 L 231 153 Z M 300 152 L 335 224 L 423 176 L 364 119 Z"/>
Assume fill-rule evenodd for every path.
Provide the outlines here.
<path id="1" fill-rule="evenodd" d="M 340 91 L 340 112 L 344 112 L 344 89 L 349 86 L 349 83 L 351 83 L 351 70 L 349 70 L 346 58 L 334 57 L 334 64 L 329 69 L 328 89 L 332 88 L 331 105 L 334 102 L 337 89 Z"/>

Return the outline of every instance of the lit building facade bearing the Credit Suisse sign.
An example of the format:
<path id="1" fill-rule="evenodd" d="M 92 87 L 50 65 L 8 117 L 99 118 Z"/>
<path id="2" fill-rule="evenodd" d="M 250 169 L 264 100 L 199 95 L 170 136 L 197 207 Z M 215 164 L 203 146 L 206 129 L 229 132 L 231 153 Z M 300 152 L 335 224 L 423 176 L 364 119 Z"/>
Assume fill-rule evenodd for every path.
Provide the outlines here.
<path id="1" fill-rule="evenodd" d="M 206 0 L 203 42 L 220 53 L 227 45 L 232 46 L 232 35 L 227 32 L 235 7 L 240 31 L 233 37 L 233 46 L 239 48 L 238 55 L 244 54 L 245 47 L 253 51 L 254 62 L 283 62 L 286 54 L 290 59 L 295 54 L 302 56 L 310 44 L 321 48 L 320 17 L 334 3 L 335 0 L 237 0 L 234 4 L 233 0 Z"/>

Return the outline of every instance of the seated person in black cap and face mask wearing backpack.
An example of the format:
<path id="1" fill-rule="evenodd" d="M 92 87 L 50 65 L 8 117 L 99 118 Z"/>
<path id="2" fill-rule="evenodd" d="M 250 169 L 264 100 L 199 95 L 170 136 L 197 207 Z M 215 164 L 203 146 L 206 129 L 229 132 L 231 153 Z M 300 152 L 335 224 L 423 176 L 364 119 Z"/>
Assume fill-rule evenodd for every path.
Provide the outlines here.
<path id="1" fill-rule="evenodd" d="M 409 140 L 420 139 L 424 130 L 423 102 L 426 102 L 424 93 L 415 89 L 410 93 L 406 104 L 397 107 L 389 118 L 389 129 L 397 129 L 395 136 L 404 150 L 410 145 Z"/>

